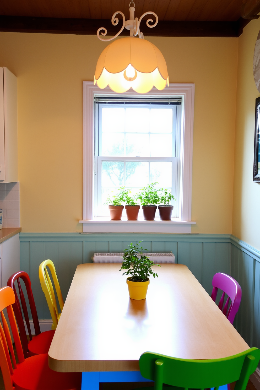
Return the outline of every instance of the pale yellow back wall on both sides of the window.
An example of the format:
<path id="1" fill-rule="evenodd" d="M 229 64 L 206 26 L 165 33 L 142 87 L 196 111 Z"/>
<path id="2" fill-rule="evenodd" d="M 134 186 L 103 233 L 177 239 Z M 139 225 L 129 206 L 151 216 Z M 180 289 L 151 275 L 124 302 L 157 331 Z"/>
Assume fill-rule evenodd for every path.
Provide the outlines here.
<path id="1" fill-rule="evenodd" d="M 170 82 L 195 83 L 192 219 L 231 233 L 237 38 L 149 38 Z M 23 232 L 82 231 L 82 82 L 105 47 L 96 36 L 0 33 L 0 66 L 18 77 Z"/>

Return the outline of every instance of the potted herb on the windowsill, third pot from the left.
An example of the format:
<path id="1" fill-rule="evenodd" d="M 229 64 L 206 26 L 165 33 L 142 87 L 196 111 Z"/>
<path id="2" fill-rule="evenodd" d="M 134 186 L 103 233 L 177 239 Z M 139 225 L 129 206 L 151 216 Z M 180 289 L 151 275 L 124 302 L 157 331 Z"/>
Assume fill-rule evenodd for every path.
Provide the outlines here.
<path id="1" fill-rule="evenodd" d="M 141 193 L 138 197 L 141 201 L 143 209 L 143 218 L 147 221 L 154 221 L 155 213 L 159 203 L 158 191 L 154 188 L 155 184 L 148 184 L 146 187 L 141 188 Z"/>

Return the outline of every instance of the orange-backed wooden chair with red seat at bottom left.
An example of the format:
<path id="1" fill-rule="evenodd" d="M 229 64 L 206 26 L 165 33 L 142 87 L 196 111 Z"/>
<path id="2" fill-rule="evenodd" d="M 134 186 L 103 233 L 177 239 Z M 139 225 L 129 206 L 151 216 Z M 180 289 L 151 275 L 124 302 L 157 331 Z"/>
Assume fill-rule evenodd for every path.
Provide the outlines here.
<path id="1" fill-rule="evenodd" d="M 12 309 L 14 302 L 15 296 L 11 287 L 0 289 L 0 312 L 3 324 L 3 326 L 0 324 L 0 368 L 3 374 L 5 390 L 80 390 L 81 373 L 51 370 L 48 366 L 47 353 L 30 356 L 27 359 L 24 358 Z M 7 309 L 18 356 L 18 364 L 16 364 L 11 334 L 3 313 L 4 308 Z"/>

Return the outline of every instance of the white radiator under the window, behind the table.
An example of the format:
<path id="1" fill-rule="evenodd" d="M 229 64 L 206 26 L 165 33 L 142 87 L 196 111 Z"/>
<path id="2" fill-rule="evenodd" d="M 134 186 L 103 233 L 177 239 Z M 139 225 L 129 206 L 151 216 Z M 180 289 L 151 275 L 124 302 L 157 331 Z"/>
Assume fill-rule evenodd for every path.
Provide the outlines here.
<path id="1" fill-rule="evenodd" d="M 144 253 L 154 263 L 166 264 L 174 263 L 174 255 L 170 253 Z M 94 253 L 92 260 L 94 263 L 122 263 L 124 253 Z"/>

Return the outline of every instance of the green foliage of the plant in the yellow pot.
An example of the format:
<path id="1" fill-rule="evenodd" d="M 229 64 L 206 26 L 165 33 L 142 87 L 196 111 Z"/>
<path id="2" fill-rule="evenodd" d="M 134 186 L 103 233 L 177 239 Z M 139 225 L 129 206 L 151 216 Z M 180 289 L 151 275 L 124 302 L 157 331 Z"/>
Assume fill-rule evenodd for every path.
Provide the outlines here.
<path id="1" fill-rule="evenodd" d="M 146 282 L 149 280 L 149 276 L 152 275 L 154 278 L 158 277 L 152 268 L 153 266 L 161 267 L 159 264 L 154 264 L 149 257 L 143 255 L 142 246 L 140 246 L 142 241 L 139 241 L 139 244 L 127 245 L 129 249 L 125 249 L 122 267 L 121 269 L 128 269 L 124 272 L 123 275 L 129 275 L 129 280 L 132 282 Z"/>

